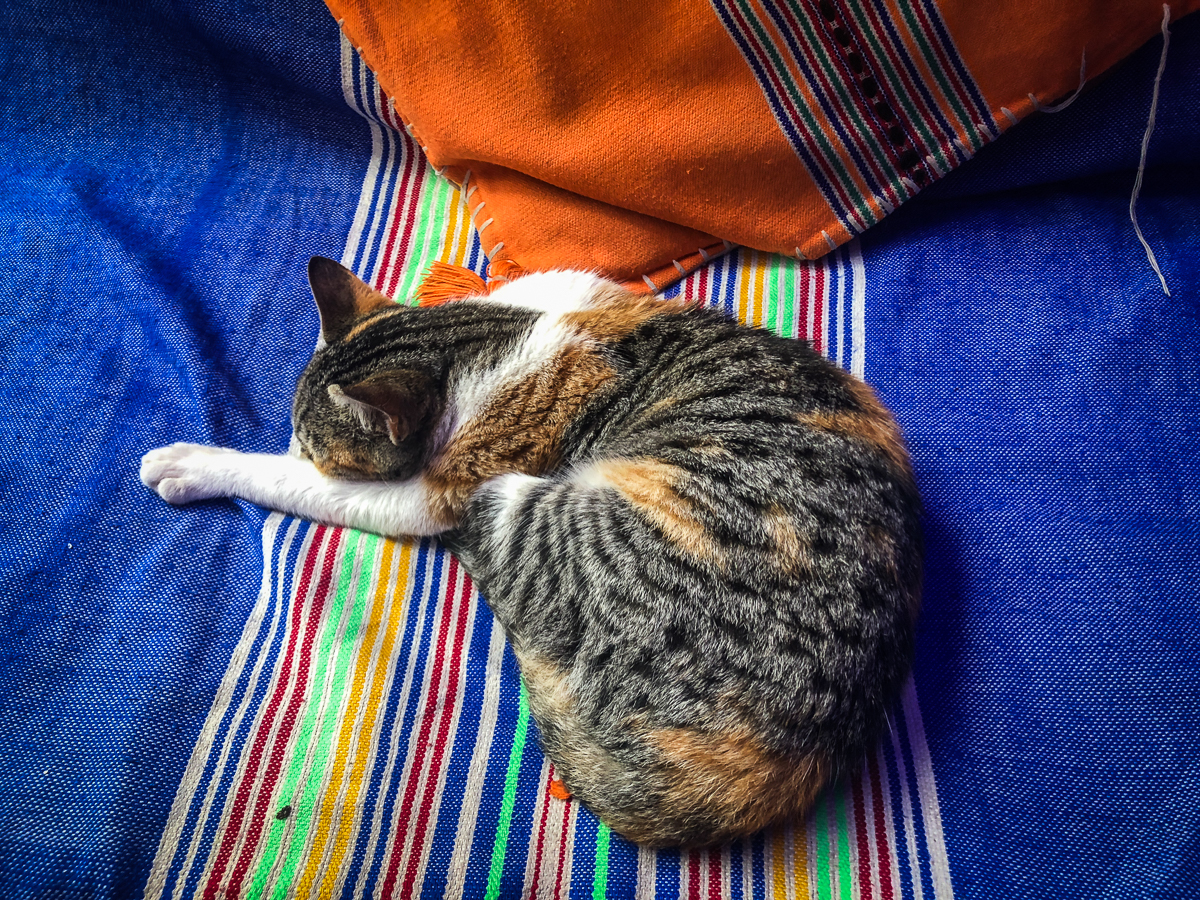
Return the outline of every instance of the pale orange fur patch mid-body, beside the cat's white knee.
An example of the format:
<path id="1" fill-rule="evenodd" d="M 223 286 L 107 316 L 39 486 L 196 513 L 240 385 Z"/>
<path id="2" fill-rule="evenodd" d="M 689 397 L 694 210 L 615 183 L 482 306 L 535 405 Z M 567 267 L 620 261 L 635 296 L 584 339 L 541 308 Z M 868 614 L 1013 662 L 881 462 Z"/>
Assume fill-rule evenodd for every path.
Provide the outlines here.
<path id="1" fill-rule="evenodd" d="M 593 470 L 677 547 L 707 563 L 724 562 L 720 545 L 696 517 L 692 504 L 676 490 L 686 478 L 682 469 L 658 460 L 605 460 Z"/>

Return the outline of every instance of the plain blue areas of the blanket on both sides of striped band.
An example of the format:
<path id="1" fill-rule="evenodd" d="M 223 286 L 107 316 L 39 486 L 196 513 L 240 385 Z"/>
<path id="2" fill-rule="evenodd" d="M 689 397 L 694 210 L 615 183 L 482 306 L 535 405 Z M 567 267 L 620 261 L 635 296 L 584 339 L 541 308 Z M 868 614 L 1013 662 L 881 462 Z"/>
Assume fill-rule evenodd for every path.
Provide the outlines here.
<path id="1" fill-rule="evenodd" d="M 0 896 L 138 895 L 262 514 L 137 481 L 286 445 L 368 162 L 312 2 L 0 7 Z M 917 680 L 955 893 L 1200 887 L 1200 19 L 863 239 L 928 506 Z M 931 887 L 930 887 L 931 892 Z M 932 894 L 926 892 L 925 896 Z"/>

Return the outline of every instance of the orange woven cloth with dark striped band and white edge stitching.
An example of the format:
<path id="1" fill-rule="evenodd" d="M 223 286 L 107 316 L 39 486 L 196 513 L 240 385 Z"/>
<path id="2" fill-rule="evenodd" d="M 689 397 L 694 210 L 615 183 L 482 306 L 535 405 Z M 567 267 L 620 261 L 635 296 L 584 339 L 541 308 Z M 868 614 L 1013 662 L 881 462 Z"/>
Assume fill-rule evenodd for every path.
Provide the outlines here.
<path id="1" fill-rule="evenodd" d="M 1093 77 L 1162 19 L 1157 0 L 328 4 L 470 193 L 493 266 L 640 289 L 726 241 L 828 252 L 1033 112 L 1031 94 L 1073 91 L 1085 46 Z"/>

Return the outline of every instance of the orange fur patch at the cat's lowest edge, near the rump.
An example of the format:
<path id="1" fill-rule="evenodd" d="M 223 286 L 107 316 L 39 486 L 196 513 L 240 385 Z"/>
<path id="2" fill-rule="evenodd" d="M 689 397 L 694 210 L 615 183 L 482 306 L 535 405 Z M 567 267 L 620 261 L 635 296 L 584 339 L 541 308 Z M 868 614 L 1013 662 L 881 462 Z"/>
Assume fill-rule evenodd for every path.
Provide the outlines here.
<path id="1" fill-rule="evenodd" d="M 666 728 L 648 738 L 665 757 L 666 803 L 683 817 L 715 820 L 710 828 L 716 840 L 803 815 L 826 782 L 826 767 L 816 757 L 787 758 L 742 731 Z M 625 836 L 649 836 L 636 828 Z"/>

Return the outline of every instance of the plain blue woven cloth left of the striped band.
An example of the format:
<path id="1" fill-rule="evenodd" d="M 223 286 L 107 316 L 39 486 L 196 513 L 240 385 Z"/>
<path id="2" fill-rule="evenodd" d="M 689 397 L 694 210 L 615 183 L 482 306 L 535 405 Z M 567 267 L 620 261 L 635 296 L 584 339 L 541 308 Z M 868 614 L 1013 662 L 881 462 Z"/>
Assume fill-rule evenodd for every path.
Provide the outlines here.
<path id="1" fill-rule="evenodd" d="M 0 896 L 133 896 L 263 515 L 138 462 L 286 448 L 370 140 L 319 2 L 17 0 L 0 36 Z"/>

